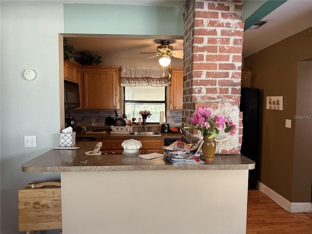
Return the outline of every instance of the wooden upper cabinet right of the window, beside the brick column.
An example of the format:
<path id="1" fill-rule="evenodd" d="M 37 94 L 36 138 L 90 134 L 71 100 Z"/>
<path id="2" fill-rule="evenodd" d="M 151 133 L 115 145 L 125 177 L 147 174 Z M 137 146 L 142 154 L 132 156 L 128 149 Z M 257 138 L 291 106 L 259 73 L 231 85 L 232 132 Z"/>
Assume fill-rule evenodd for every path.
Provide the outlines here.
<path id="1" fill-rule="evenodd" d="M 183 68 L 171 68 L 170 110 L 183 109 Z"/>

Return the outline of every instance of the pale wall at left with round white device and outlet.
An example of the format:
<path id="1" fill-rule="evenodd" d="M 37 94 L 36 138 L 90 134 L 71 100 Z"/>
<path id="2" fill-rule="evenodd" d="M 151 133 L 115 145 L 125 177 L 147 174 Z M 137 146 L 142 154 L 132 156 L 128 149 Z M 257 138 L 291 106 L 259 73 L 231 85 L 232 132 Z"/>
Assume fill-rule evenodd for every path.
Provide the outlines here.
<path id="1" fill-rule="evenodd" d="M 63 4 L 1 2 L 1 229 L 18 232 L 18 190 L 59 174 L 28 174 L 21 164 L 59 144 L 59 39 Z M 26 69 L 37 72 L 28 81 Z M 37 136 L 24 148 L 23 136 Z M 51 232 L 52 233 L 52 232 Z"/>

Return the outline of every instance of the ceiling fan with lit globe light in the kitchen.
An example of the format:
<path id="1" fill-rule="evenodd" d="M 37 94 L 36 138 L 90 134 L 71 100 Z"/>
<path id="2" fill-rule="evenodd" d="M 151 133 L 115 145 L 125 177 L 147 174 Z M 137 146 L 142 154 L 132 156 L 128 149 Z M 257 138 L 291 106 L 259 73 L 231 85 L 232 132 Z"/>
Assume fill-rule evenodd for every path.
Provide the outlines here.
<path id="1" fill-rule="evenodd" d="M 158 56 L 161 56 L 161 58 L 158 60 L 159 64 L 163 67 L 166 67 L 170 64 L 171 58 L 177 58 L 177 59 L 183 59 L 183 50 L 173 50 L 173 47 L 170 44 L 170 40 L 160 40 L 160 45 L 157 46 L 157 53 L 153 52 L 141 52 L 140 54 L 156 54 L 152 57 L 146 58 L 146 59 L 152 59 L 156 58 Z"/>

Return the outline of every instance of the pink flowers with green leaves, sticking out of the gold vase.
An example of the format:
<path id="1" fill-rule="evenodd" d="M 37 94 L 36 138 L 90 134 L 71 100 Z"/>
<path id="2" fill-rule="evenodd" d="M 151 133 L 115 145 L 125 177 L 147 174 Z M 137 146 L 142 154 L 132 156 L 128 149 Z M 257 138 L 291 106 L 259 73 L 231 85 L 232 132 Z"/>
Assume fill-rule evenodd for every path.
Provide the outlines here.
<path id="1" fill-rule="evenodd" d="M 232 122 L 230 117 L 222 115 L 211 116 L 211 111 L 205 107 L 199 107 L 194 113 L 193 117 L 189 119 L 194 127 L 184 127 L 185 129 L 194 128 L 199 130 L 203 135 L 207 135 L 209 139 L 216 137 L 220 131 L 233 136 L 236 133 L 236 125 Z"/>

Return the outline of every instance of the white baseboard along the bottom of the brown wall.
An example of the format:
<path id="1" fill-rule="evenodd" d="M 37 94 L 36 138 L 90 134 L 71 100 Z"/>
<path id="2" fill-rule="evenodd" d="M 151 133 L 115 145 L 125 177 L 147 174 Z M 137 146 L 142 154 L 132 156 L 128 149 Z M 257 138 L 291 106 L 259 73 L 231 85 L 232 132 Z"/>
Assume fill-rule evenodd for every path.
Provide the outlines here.
<path id="1" fill-rule="evenodd" d="M 312 203 L 311 202 L 290 202 L 285 197 L 279 195 L 271 188 L 266 186 L 265 184 L 259 182 L 258 189 L 270 197 L 274 202 L 276 202 L 280 207 L 285 209 L 290 213 L 302 213 L 302 212 L 311 212 L 312 211 Z"/>

